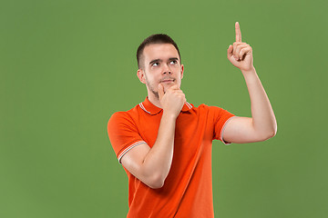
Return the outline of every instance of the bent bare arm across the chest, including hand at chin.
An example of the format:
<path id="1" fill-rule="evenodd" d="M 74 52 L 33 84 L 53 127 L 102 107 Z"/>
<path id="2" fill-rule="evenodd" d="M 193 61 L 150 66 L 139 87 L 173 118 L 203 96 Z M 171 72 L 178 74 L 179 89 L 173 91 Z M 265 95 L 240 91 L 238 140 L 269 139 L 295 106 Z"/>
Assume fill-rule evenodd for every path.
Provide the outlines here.
<path id="1" fill-rule="evenodd" d="M 164 94 L 163 87 L 159 84 L 159 101 L 163 114 L 155 144 L 151 148 L 148 144 L 139 144 L 121 159 L 129 173 L 154 189 L 161 188 L 169 174 L 176 120 L 186 98 L 177 85 L 171 86 Z"/>

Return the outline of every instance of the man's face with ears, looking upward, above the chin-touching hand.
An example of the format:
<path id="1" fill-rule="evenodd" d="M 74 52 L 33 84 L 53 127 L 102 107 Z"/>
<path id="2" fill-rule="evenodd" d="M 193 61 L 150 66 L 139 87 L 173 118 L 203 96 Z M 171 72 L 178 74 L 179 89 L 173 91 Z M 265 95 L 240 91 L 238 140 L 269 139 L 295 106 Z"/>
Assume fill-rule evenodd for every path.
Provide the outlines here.
<path id="1" fill-rule="evenodd" d="M 138 78 L 146 84 L 148 93 L 159 98 L 159 84 L 163 84 L 164 92 L 173 84 L 180 86 L 183 77 L 183 65 L 174 45 L 152 44 L 143 51 L 143 66 L 138 70 Z"/>

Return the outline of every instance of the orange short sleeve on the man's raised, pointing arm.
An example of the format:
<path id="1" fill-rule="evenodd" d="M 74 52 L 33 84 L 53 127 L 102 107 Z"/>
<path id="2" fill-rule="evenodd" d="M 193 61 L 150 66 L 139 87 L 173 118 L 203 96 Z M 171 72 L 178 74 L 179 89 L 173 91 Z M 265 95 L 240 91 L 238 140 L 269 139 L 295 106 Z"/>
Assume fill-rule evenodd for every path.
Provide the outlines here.
<path id="1" fill-rule="evenodd" d="M 231 114 L 227 110 L 224 110 L 220 107 L 211 106 L 210 110 L 212 111 L 214 115 L 214 137 L 213 139 L 218 139 L 224 144 L 231 144 L 229 142 L 225 142 L 223 140 L 223 131 L 224 127 L 228 122 L 231 120 L 231 118 L 235 117 L 234 114 Z"/>

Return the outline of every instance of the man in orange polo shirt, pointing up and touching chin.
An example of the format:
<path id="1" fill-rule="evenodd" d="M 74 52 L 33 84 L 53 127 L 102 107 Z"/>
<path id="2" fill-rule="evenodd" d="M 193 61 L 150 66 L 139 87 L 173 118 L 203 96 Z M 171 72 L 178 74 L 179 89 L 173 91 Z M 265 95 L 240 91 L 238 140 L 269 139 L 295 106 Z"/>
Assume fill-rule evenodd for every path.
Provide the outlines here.
<path id="1" fill-rule="evenodd" d="M 253 66 L 251 46 L 228 48 L 231 64 L 241 69 L 252 117 L 220 107 L 186 102 L 179 89 L 184 66 L 178 45 L 168 35 L 150 35 L 138 47 L 138 79 L 148 97 L 108 121 L 110 142 L 128 174 L 128 217 L 214 217 L 211 143 L 260 142 L 276 134 L 270 101 Z"/>

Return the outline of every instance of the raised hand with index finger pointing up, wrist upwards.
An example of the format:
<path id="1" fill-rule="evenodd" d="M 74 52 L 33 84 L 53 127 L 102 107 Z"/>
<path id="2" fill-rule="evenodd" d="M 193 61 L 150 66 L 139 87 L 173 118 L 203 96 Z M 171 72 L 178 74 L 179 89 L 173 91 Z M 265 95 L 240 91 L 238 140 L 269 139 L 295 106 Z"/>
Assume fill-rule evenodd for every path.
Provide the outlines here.
<path id="1" fill-rule="evenodd" d="M 253 69 L 253 57 L 251 45 L 241 42 L 241 27 L 238 22 L 235 24 L 236 42 L 229 45 L 228 59 L 231 64 L 237 66 L 241 71 Z"/>

